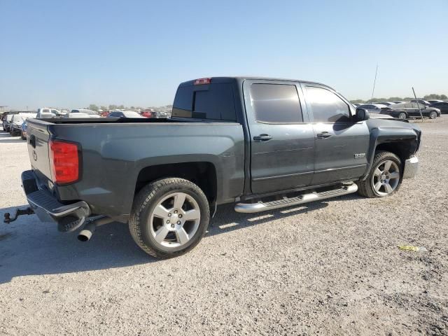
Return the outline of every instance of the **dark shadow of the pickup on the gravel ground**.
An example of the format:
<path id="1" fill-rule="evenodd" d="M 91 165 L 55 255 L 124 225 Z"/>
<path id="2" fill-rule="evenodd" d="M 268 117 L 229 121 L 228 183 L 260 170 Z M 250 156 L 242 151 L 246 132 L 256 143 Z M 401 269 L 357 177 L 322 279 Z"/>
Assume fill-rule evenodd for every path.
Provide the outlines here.
<path id="1" fill-rule="evenodd" d="M 258 214 L 238 214 L 232 205 L 225 205 L 218 209 L 204 239 L 327 206 L 326 202 L 314 202 Z M 13 213 L 14 209 L 0 209 L 1 221 L 5 212 Z M 8 225 L 1 223 L 0 283 L 18 276 L 84 272 L 160 261 L 141 251 L 123 223 L 97 228 L 87 243 L 78 241 L 76 235 L 77 232 L 61 234 L 55 224 L 42 223 L 35 215 L 21 216 Z"/>

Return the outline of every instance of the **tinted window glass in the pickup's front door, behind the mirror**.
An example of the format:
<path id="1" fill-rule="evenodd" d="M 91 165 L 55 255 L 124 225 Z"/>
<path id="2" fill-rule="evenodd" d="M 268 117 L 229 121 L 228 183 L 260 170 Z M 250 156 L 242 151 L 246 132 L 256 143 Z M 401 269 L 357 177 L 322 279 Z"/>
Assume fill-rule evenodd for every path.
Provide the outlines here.
<path id="1" fill-rule="evenodd" d="M 307 100 L 315 123 L 344 123 L 350 121 L 349 106 L 330 90 L 307 86 Z"/>

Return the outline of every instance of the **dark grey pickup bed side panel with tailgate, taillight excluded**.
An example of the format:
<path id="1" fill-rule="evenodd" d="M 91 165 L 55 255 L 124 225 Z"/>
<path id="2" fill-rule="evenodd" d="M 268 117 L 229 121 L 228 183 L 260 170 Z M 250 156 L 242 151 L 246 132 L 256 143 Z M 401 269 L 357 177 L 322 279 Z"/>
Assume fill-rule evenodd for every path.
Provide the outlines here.
<path id="1" fill-rule="evenodd" d="M 39 182 L 49 186 L 49 191 L 60 202 L 83 200 L 91 204 L 92 214 L 109 214 L 117 221 L 127 221 L 136 189 L 141 188 L 137 183 L 139 174 L 145 168 L 158 167 L 157 171 L 151 172 L 151 179 L 154 179 L 167 169 L 179 172 L 183 166 L 200 169 L 201 166 L 194 162 L 209 162 L 217 168 L 216 176 L 212 176 L 220 184 L 216 202 L 233 202 L 235 195 L 242 192 L 244 136 L 242 126 L 237 123 L 160 119 L 123 122 L 123 118 L 101 118 L 99 123 L 92 123 L 92 119 L 76 120 L 73 123 L 72 120 L 59 119 L 56 123 L 54 119 L 29 120 L 31 167 Z M 76 183 L 54 188 L 48 160 L 50 138 L 76 139 L 82 148 L 80 160 L 83 165 Z"/>

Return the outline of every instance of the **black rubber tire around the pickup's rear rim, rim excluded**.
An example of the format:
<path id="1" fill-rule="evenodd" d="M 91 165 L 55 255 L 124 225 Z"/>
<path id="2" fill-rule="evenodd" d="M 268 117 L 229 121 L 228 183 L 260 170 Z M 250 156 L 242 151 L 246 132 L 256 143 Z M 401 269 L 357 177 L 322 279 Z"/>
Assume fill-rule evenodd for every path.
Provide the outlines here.
<path id="1" fill-rule="evenodd" d="M 187 243 L 177 247 L 167 247 L 155 241 L 155 237 L 151 233 L 151 230 L 155 230 L 152 226 L 155 224 L 151 223 L 151 215 L 155 211 L 155 207 L 158 207 L 159 203 L 164 200 L 164 197 L 173 193 L 181 193 L 193 197 L 200 210 L 200 219 L 197 220 L 199 226 L 195 226 L 195 233 L 189 238 Z M 195 183 L 179 178 L 160 179 L 149 183 L 134 198 L 129 228 L 134 241 L 146 253 L 156 258 L 172 258 L 187 253 L 199 244 L 209 226 L 209 218 L 209 202 Z M 164 226 L 165 223 L 164 220 L 161 221 L 162 225 L 159 228 Z"/>

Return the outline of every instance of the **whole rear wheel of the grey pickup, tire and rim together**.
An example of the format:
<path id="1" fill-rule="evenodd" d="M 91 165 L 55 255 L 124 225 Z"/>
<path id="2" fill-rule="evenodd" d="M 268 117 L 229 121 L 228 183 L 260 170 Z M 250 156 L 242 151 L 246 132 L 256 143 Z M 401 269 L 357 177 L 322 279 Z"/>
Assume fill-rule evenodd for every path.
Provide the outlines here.
<path id="1" fill-rule="evenodd" d="M 209 202 L 195 183 L 161 179 L 137 194 L 129 227 L 132 238 L 146 253 L 172 258 L 199 244 L 209 218 Z"/>

